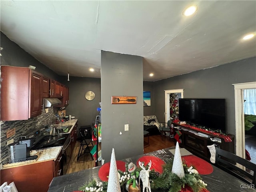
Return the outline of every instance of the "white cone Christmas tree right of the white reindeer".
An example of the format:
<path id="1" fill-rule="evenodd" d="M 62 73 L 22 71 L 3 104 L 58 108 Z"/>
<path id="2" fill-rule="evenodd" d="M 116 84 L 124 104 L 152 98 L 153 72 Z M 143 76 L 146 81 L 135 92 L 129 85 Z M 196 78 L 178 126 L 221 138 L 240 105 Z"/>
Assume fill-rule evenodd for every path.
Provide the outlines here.
<path id="1" fill-rule="evenodd" d="M 176 143 L 174 159 L 172 164 L 172 172 L 178 175 L 180 178 L 183 178 L 185 176 L 182 159 L 180 155 L 180 146 L 178 142 Z"/>

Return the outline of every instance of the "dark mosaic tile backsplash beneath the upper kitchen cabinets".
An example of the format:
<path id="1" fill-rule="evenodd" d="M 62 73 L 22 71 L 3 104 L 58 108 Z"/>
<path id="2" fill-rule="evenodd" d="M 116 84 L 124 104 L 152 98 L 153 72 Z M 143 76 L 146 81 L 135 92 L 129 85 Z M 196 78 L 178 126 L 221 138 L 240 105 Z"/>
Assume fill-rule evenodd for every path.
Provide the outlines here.
<path id="1" fill-rule="evenodd" d="M 48 108 L 48 113 L 43 113 L 29 120 L 20 121 L 5 121 L 1 122 L 1 157 L 0 160 L 6 159 L 8 157 L 7 141 L 14 139 L 14 142 L 18 142 L 20 136 L 26 134 L 26 132 L 34 129 L 41 128 L 49 124 L 49 119 L 53 119 L 54 115 L 58 112 L 57 108 Z M 16 133 L 10 138 L 6 138 L 6 132 L 12 128 L 16 129 Z"/>

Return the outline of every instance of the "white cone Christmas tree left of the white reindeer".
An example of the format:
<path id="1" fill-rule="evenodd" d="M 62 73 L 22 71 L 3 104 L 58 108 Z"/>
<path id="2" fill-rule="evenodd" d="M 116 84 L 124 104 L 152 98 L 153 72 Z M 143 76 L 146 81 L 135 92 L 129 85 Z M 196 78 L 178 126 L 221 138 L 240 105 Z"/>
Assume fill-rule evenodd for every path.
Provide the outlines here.
<path id="1" fill-rule="evenodd" d="M 112 154 L 110 159 L 107 192 L 121 192 L 114 148 L 112 149 Z"/>

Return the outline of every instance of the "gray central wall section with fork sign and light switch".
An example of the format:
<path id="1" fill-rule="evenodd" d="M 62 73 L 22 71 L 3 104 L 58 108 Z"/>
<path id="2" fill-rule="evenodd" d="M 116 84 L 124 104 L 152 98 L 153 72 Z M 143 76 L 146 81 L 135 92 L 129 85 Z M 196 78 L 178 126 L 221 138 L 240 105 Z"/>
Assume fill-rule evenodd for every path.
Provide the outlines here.
<path id="1" fill-rule="evenodd" d="M 143 154 L 142 57 L 101 52 L 102 158 Z M 111 96 L 137 96 L 136 104 L 111 104 Z M 129 131 L 124 131 L 129 124 Z M 122 132 L 120 135 L 119 133 Z"/>

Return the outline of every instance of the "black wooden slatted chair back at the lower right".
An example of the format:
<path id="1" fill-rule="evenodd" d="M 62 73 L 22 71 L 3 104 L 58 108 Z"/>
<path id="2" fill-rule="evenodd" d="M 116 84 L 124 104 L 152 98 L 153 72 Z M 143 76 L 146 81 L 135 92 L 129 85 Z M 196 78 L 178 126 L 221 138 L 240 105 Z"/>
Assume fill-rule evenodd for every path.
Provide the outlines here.
<path id="1" fill-rule="evenodd" d="M 256 184 L 256 164 L 218 147 L 216 147 L 215 163 L 219 168 L 222 168 L 240 180 L 248 184 Z M 246 167 L 248 172 L 237 167 L 236 163 Z"/>

